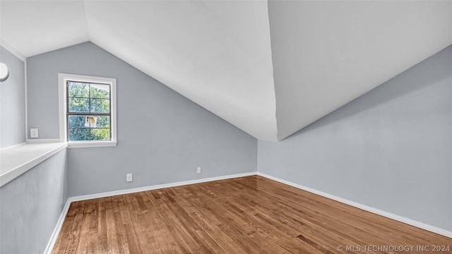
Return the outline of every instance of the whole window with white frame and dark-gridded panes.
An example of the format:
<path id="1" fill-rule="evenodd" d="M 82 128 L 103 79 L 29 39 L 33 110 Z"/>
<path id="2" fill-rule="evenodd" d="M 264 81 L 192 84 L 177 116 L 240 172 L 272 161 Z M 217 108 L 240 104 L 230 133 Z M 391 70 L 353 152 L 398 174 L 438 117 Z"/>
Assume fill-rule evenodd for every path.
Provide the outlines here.
<path id="1" fill-rule="evenodd" d="M 59 74 L 60 140 L 69 147 L 116 145 L 116 79 Z"/>

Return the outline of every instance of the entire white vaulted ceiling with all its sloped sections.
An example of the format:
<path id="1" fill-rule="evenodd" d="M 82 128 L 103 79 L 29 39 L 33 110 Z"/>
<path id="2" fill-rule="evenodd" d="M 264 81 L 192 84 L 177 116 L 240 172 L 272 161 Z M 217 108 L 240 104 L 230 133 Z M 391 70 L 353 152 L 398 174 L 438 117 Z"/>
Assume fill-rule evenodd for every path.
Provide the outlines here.
<path id="1" fill-rule="evenodd" d="M 1 0 L 0 15 L 25 57 L 93 42 L 261 140 L 452 44 L 452 1 Z"/>

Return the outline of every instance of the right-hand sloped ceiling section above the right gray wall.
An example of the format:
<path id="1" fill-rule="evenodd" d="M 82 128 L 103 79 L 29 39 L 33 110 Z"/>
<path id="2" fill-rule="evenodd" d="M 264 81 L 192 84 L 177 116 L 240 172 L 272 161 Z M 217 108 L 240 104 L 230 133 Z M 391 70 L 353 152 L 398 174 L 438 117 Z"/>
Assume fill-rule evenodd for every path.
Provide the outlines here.
<path id="1" fill-rule="evenodd" d="M 452 44 L 452 1 L 270 1 L 278 139 Z"/>

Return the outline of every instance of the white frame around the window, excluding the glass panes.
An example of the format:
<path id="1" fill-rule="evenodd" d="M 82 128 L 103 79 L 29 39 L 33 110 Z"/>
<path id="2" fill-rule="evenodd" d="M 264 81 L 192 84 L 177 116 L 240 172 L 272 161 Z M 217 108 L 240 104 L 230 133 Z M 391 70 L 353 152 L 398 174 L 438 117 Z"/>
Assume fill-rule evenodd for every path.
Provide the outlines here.
<path id="1" fill-rule="evenodd" d="M 110 85 L 110 125 L 112 128 L 112 140 L 107 141 L 69 141 L 67 139 L 67 96 L 66 82 L 80 81 L 85 83 L 103 83 Z M 59 140 L 68 144 L 68 148 L 81 147 L 111 147 L 117 145 L 117 116 L 116 116 L 116 78 L 100 78 L 86 75 L 58 74 L 58 94 L 59 94 Z"/>

